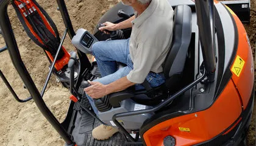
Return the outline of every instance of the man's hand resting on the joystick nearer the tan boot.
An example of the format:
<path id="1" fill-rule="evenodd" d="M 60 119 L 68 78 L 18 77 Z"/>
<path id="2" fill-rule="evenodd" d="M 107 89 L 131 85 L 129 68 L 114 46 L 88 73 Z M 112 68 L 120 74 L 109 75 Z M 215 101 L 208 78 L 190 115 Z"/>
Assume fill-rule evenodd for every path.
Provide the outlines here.
<path id="1" fill-rule="evenodd" d="M 91 86 L 88 86 L 84 91 L 93 99 L 100 99 L 107 95 L 106 86 L 99 82 L 90 82 Z"/>

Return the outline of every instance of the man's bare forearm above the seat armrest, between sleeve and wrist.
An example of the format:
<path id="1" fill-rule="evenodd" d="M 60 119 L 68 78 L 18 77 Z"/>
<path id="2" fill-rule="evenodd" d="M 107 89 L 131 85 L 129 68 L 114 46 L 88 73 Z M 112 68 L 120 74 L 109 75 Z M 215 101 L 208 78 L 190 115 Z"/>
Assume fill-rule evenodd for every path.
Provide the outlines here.
<path id="1" fill-rule="evenodd" d="M 118 92 L 123 91 L 124 89 L 127 89 L 130 86 L 135 85 L 136 83 L 130 82 L 127 77 L 120 78 L 119 80 L 116 80 L 113 83 L 110 83 L 106 85 L 106 92 L 107 94 L 110 94 L 112 92 Z"/>

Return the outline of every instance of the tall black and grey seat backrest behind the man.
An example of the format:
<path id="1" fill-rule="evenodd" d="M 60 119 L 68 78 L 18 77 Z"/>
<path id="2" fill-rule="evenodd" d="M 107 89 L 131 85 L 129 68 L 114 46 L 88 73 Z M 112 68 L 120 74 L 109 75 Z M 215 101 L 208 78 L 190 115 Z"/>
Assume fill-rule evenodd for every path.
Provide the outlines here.
<path id="1" fill-rule="evenodd" d="M 169 89 L 176 88 L 182 77 L 191 40 L 191 20 L 191 8 L 188 5 L 178 5 L 174 12 L 172 45 L 163 65 L 166 87 Z"/>

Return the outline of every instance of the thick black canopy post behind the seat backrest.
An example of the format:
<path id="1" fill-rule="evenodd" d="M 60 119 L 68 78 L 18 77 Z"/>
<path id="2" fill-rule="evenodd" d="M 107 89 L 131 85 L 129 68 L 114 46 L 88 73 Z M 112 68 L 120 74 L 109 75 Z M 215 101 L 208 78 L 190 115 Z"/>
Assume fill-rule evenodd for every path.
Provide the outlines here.
<path id="1" fill-rule="evenodd" d="M 196 14 L 204 66 L 209 82 L 213 82 L 216 70 L 215 58 L 215 15 L 213 0 L 197 0 Z"/>

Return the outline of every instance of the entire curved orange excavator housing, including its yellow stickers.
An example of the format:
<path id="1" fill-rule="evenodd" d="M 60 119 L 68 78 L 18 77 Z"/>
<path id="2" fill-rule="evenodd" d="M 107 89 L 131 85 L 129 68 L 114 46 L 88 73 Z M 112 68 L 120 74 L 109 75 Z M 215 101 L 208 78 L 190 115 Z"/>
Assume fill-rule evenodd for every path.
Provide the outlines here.
<path id="1" fill-rule="evenodd" d="M 241 113 L 254 88 L 254 61 L 246 30 L 238 16 L 229 11 L 238 28 L 238 50 L 230 68 L 231 80 L 210 108 L 166 120 L 146 131 L 143 134 L 146 145 L 163 146 L 161 139 L 166 136 L 174 137 L 176 145 L 199 144 L 229 133 L 242 120 Z"/>

